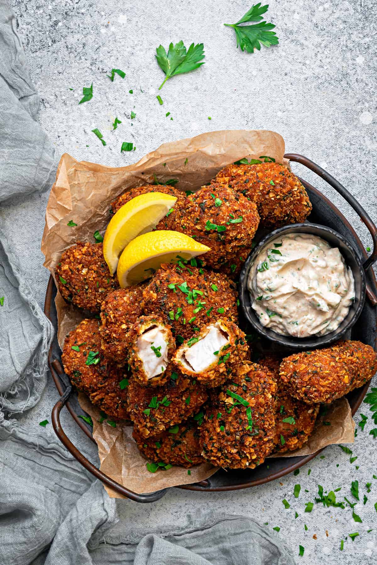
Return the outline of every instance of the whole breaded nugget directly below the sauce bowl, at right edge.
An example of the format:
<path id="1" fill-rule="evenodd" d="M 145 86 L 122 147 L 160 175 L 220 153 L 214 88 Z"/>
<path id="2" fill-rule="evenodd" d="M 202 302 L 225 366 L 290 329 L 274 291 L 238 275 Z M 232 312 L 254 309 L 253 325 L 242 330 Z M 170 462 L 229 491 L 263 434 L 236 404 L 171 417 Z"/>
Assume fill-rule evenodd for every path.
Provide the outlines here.
<path id="1" fill-rule="evenodd" d="M 338 341 L 326 349 L 302 351 L 283 359 L 280 379 L 294 398 L 330 403 L 363 386 L 377 370 L 377 354 L 361 341 Z"/>

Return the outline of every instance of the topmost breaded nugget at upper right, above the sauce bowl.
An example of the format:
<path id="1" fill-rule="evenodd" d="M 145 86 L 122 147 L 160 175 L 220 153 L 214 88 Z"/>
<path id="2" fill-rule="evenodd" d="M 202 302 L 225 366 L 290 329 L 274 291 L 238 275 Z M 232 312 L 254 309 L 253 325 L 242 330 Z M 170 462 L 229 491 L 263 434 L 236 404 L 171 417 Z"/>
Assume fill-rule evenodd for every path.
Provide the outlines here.
<path id="1" fill-rule="evenodd" d="M 304 186 L 279 163 L 228 165 L 218 172 L 215 181 L 255 202 L 261 225 L 266 228 L 301 223 L 311 212 Z"/>

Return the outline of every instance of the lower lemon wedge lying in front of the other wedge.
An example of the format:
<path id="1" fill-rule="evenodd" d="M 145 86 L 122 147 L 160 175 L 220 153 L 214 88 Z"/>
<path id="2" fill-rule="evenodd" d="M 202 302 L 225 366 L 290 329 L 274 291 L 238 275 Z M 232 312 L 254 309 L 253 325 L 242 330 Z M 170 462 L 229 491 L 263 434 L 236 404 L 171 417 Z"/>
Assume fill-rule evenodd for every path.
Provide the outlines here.
<path id="1" fill-rule="evenodd" d="M 157 231 L 144 233 L 132 240 L 120 255 L 118 270 L 122 288 L 148 279 L 161 267 L 161 263 L 176 263 L 180 257 L 192 259 L 210 251 L 184 233 Z M 177 257 L 179 255 L 179 257 Z"/>

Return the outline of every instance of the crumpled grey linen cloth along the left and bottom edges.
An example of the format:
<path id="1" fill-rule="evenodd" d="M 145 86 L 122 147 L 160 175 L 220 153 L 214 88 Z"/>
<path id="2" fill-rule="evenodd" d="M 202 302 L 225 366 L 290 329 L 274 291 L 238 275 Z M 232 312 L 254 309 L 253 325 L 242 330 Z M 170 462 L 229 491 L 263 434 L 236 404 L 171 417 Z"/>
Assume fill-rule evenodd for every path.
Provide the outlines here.
<path id="1" fill-rule="evenodd" d="M 54 180 L 57 155 L 37 110 L 15 17 L 0 0 L 0 202 Z M 1 226 L 0 297 L 1 565 L 293 565 L 284 542 L 251 518 L 203 516 L 157 533 L 117 524 L 114 499 L 52 430 L 31 433 L 9 417 L 40 399 L 53 328 Z"/>

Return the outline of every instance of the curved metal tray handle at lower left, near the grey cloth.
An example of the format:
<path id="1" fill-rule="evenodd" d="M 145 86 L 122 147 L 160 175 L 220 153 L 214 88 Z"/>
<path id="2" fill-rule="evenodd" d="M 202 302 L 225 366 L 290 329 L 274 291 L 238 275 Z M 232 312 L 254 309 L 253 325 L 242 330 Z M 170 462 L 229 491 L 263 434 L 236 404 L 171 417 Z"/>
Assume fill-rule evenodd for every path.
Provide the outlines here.
<path id="1" fill-rule="evenodd" d="M 149 494 L 134 493 L 132 492 L 132 490 L 126 489 L 125 486 L 117 483 L 116 481 L 111 479 L 111 477 L 105 475 L 105 473 L 102 473 L 102 471 L 94 466 L 93 463 L 90 463 L 89 459 L 86 459 L 86 457 L 84 457 L 84 455 L 77 449 L 77 447 L 72 444 L 71 440 L 66 436 L 66 433 L 63 432 L 62 424 L 60 424 L 60 411 L 70 397 L 71 392 L 72 386 L 67 386 L 64 394 L 59 398 L 58 402 L 55 404 L 51 412 L 51 421 L 53 423 L 53 428 L 64 447 L 66 447 L 66 449 L 70 451 L 73 457 L 75 457 L 87 471 L 92 473 L 92 475 L 97 477 L 97 479 L 102 481 L 102 483 L 104 483 L 105 485 L 110 486 L 110 488 L 116 490 L 116 492 L 123 494 L 124 497 L 130 498 L 135 502 L 155 502 L 162 498 L 164 494 L 166 494 L 168 489 L 157 490 L 156 492 Z"/>

